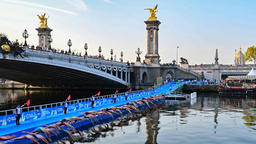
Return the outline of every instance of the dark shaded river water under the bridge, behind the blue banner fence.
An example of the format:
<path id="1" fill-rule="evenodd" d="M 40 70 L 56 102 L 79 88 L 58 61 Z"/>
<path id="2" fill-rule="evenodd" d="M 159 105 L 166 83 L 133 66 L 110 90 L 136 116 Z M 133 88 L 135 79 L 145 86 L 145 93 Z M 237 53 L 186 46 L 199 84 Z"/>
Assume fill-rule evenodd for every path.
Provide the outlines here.
<path id="1" fill-rule="evenodd" d="M 91 98 L 92 94 L 97 94 L 99 90 L 9 90 L 0 89 L 0 111 L 15 109 L 17 104 L 24 104 L 30 99 L 30 106 L 44 105 L 49 103 L 63 102 L 71 96 L 71 100 Z M 100 90 L 102 96 L 114 94 L 115 89 Z M 124 92 L 124 90 L 119 90 Z"/>

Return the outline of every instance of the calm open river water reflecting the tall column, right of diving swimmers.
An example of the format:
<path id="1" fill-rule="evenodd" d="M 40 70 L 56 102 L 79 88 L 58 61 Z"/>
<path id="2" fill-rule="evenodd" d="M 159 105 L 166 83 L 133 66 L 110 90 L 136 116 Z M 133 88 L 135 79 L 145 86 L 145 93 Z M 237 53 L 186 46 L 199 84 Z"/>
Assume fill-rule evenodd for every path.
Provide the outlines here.
<path id="1" fill-rule="evenodd" d="M 198 93 L 195 103 L 159 105 L 132 118 L 84 128 L 87 137 L 75 135 L 79 142 L 65 137 L 53 144 L 255 144 L 255 110 L 256 96 Z"/>

